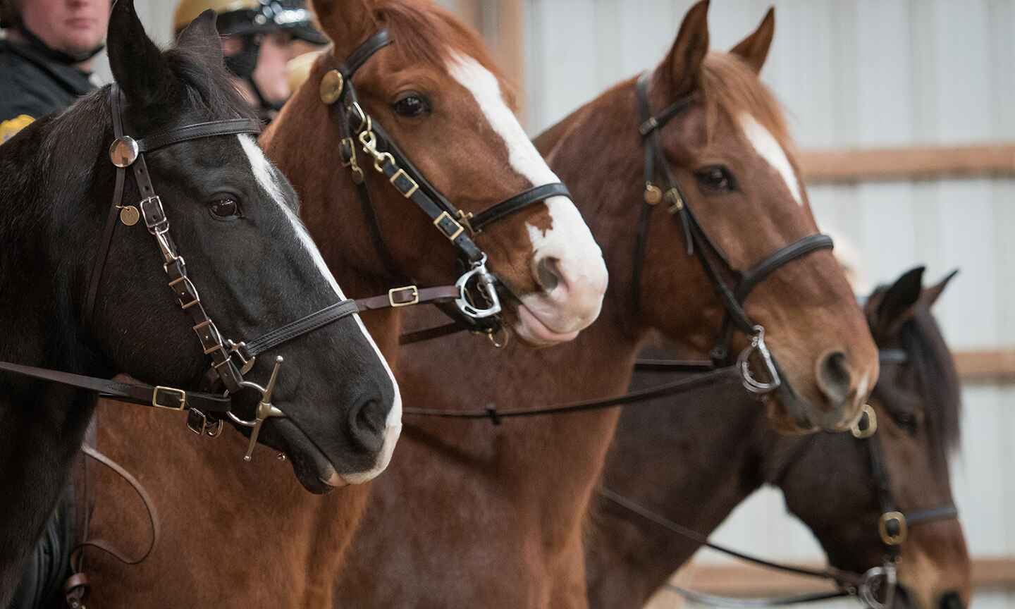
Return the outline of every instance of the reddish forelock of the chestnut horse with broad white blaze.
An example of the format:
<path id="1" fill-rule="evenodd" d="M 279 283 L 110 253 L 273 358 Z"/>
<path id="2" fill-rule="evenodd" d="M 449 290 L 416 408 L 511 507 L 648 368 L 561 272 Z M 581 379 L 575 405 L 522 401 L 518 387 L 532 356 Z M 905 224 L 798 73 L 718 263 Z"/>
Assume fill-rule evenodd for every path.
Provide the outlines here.
<path id="1" fill-rule="evenodd" d="M 496 77 L 505 101 L 515 108 L 516 87 L 493 63 L 479 33 L 451 12 L 428 0 L 381 0 L 371 17 L 376 26 L 388 28 L 400 64 L 446 70 L 455 54 L 466 55 Z"/>

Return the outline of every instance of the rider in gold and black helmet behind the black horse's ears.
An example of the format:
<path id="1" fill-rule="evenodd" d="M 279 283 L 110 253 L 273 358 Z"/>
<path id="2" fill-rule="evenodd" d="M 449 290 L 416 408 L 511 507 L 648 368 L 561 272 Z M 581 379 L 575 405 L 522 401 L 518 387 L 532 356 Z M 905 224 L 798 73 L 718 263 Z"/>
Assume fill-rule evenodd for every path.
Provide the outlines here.
<path id="1" fill-rule="evenodd" d="M 291 93 L 286 63 L 295 47 L 328 39 L 312 24 L 303 0 L 181 0 L 173 21 L 177 35 L 209 8 L 218 13 L 225 67 L 261 118 L 271 120 Z"/>

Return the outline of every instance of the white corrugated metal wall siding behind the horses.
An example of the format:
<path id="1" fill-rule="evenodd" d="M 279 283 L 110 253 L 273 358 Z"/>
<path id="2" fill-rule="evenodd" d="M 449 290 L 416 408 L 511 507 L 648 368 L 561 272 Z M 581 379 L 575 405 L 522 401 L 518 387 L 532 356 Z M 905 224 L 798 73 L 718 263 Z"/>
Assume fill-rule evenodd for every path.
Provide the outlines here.
<path id="1" fill-rule="evenodd" d="M 654 67 L 690 1 L 527 0 L 528 120 L 538 133 L 608 85 Z M 713 48 L 749 33 L 771 4 L 717 1 Z M 801 147 L 1015 139 L 1015 3 L 1006 0 L 777 1 L 762 73 L 787 107 Z M 960 268 L 937 314 L 953 348 L 1015 345 L 1015 181 L 941 180 L 815 186 L 819 222 L 861 252 L 869 281 L 918 264 L 936 280 Z M 1015 554 L 1015 388 L 964 391 L 955 492 L 975 555 Z M 1008 470 L 1008 471 L 1006 471 Z M 758 526 L 764 523 L 764 526 Z M 820 560 L 782 496 L 747 501 L 717 539 L 767 555 Z M 718 558 L 708 558 L 720 560 Z M 1015 607 L 1015 594 L 977 605 Z"/>

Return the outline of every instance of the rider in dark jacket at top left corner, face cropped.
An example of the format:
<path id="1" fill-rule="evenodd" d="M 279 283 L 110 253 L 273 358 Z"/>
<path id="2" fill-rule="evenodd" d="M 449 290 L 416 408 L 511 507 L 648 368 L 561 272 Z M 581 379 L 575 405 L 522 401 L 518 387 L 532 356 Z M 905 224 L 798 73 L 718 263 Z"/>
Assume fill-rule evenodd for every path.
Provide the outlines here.
<path id="1" fill-rule="evenodd" d="M 110 0 L 0 0 L 0 143 L 95 88 Z"/>

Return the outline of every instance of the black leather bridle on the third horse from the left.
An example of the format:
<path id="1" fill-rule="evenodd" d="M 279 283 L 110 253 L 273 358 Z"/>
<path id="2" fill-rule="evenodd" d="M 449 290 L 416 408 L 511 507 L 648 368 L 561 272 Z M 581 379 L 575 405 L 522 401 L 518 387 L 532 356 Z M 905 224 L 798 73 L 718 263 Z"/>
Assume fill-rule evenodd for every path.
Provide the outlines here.
<path id="1" fill-rule="evenodd" d="M 633 297 L 635 310 L 639 311 L 641 306 L 641 267 L 645 264 L 649 239 L 649 222 L 652 219 L 652 211 L 665 199 L 669 203 L 667 211 L 670 215 L 680 218 L 684 243 L 687 246 L 687 255 L 697 256 L 701 268 L 704 269 L 726 310 L 723 314 L 723 324 L 716 339 L 716 345 L 709 353 L 713 365 L 719 367 L 731 363 L 730 346 L 733 341 L 733 332 L 739 330 L 751 339 L 750 345 L 737 358 L 737 367 L 740 370 L 744 388 L 756 395 L 771 393 L 782 386 L 779 364 L 765 345 L 764 327 L 747 315 L 743 302 L 758 283 L 764 281 L 784 265 L 813 252 L 830 250 L 832 248 L 831 238 L 821 233 L 810 234 L 776 250 L 745 272 L 734 268 L 723 250 L 716 245 L 698 223 L 697 218 L 694 217 L 687 197 L 680 188 L 680 183 L 673 176 L 660 143 L 659 131 L 674 117 L 690 108 L 695 95 L 693 93 L 686 95 L 654 115 L 649 103 L 649 81 L 650 73 L 645 72 L 638 77 L 636 85 L 637 107 L 641 121 L 638 133 L 645 142 L 645 193 L 641 214 L 638 219 L 637 241 L 634 246 Z M 656 170 L 657 163 L 660 167 L 658 172 Z M 656 182 L 658 173 L 662 174 L 662 184 L 665 191 Z M 724 280 L 724 275 L 734 278 L 735 282 L 732 286 Z M 752 357 L 755 354 L 758 357 Z M 752 374 L 752 359 L 760 359 L 767 377 L 766 381 L 758 380 Z"/>

